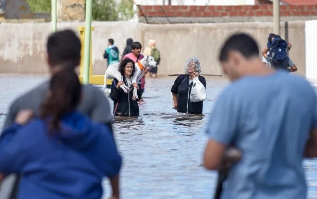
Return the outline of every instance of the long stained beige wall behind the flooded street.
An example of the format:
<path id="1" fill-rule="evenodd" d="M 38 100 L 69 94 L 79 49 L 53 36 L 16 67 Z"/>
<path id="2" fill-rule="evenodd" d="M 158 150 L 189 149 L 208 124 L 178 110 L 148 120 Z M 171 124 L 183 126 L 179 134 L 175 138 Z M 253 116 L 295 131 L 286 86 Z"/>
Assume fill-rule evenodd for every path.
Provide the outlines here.
<path id="1" fill-rule="evenodd" d="M 73 28 L 84 23 L 60 23 L 58 28 Z M 200 59 L 202 72 L 221 74 L 217 61 L 221 42 L 236 31 L 246 31 L 266 46 L 271 23 L 179 24 L 146 25 L 132 22 L 93 22 L 93 73 L 104 74 L 106 60 L 102 54 L 107 39 L 113 38 L 122 53 L 128 37 L 139 40 L 144 46 L 147 40 L 156 40 L 162 61 L 159 75 L 183 72 L 187 58 Z M 49 23 L 0 24 L 0 73 L 47 73 L 45 45 L 50 32 Z M 285 30 L 286 34 L 285 34 Z M 289 39 L 293 47 L 290 57 L 305 75 L 305 22 L 281 24 L 281 35 Z"/>

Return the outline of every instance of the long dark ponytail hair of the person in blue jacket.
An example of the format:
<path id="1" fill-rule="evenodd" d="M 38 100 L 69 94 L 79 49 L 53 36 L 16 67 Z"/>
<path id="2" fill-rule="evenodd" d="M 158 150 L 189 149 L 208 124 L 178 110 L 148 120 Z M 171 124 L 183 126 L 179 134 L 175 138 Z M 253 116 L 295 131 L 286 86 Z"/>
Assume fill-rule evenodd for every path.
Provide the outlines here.
<path id="1" fill-rule="evenodd" d="M 73 112 L 80 101 L 81 84 L 75 71 L 65 69 L 54 74 L 49 82 L 49 91 L 40 108 L 40 116 L 48 117 L 49 132 L 52 132 L 59 129 L 62 116 Z"/>

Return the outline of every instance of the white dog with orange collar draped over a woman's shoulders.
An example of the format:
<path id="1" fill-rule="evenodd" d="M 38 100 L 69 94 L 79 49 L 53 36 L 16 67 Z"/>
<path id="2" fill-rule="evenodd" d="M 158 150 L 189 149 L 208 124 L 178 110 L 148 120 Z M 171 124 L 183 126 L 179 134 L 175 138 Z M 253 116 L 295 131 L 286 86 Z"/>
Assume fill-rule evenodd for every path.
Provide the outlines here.
<path id="1" fill-rule="evenodd" d="M 122 75 L 119 71 L 119 66 L 120 66 L 120 62 L 114 63 L 108 66 L 106 73 L 104 74 L 104 85 L 103 85 L 102 91 L 106 88 L 107 79 L 117 79 L 118 81 L 122 80 Z M 154 61 L 154 58 L 151 56 L 145 56 L 139 62 L 135 63 L 134 74 L 131 77 L 132 84 L 138 83 L 142 79 L 143 72 L 146 70 L 147 67 L 149 69 L 151 69 L 152 67 L 157 67 L 157 62 Z M 127 93 L 129 90 L 129 87 L 127 87 L 126 85 L 121 85 L 120 87 L 125 93 Z M 136 87 L 133 88 L 132 99 L 133 100 L 139 99 Z"/>

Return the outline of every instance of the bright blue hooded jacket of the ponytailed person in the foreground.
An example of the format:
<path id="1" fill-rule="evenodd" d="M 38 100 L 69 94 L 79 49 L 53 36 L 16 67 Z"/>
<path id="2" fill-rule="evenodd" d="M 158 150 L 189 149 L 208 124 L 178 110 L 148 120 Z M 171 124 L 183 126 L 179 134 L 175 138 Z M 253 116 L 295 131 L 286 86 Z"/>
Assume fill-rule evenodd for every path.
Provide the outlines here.
<path id="1" fill-rule="evenodd" d="M 100 199 L 104 176 L 116 176 L 122 165 L 105 125 L 71 113 L 61 131 L 49 135 L 48 123 L 34 119 L 13 124 L 0 137 L 0 172 L 21 173 L 19 199 Z"/>

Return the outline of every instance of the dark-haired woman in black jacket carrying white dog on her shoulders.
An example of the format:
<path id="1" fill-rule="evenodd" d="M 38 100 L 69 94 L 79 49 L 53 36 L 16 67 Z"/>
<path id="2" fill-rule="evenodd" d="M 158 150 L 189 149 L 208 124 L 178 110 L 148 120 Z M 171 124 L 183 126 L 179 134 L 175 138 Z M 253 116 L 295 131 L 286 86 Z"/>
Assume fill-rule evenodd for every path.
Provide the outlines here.
<path id="1" fill-rule="evenodd" d="M 139 116 L 139 105 L 138 102 L 141 99 L 142 90 L 140 89 L 141 84 L 132 84 L 131 77 L 134 74 L 135 64 L 130 58 L 125 58 L 120 62 L 119 71 L 122 75 L 121 80 L 113 79 L 110 99 L 112 99 L 113 114 L 116 116 Z M 126 85 L 129 87 L 127 93 L 125 93 L 120 85 Z M 133 100 L 133 87 L 138 89 L 138 100 Z"/>

